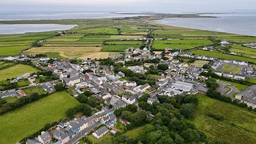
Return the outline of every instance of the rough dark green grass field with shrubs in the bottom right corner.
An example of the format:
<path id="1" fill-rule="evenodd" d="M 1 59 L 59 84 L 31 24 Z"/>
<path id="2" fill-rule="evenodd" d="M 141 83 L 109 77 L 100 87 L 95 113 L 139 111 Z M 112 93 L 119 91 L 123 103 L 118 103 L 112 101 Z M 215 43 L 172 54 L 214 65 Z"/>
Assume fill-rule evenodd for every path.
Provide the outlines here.
<path id="1" fill-rule="evenodd" d="M 256 140 L 256 114 L 219 100 L 197 94 L 199 105 L 190 119 L 210 140 L 225 139 L 231 143 L 254 143 Z M 209 111 L 224 115 L 224 121 L 217 121 L 206 115 Z M 235 123 L 236 126 L 231 125 Z"/>

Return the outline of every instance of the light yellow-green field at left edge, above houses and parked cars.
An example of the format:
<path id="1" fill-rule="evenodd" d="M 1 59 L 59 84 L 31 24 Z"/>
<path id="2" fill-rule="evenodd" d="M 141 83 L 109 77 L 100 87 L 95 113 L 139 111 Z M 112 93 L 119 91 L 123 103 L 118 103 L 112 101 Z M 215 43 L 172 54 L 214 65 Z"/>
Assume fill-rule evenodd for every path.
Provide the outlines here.
<path id="1" fill-rule="evenodd" d="M 39 70 L 28 65 L 21 65 L 21 64 L 15 65 L 13 67 L 0 70 L 0 81 L 3 81 L 7 78 L 16 78 L 17 76 L 20 76 L 26 73 L 31 74 L 37 71 Z"/>

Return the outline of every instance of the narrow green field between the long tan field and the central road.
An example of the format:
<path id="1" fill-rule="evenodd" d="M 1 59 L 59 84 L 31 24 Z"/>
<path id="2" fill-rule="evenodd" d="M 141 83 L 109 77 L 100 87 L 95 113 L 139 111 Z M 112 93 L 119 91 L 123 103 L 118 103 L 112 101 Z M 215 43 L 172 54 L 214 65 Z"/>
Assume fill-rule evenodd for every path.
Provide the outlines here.
<path id="1" fill-rule="evenodd" d="M 138 48 L 141 45 L 104 45 L 102 51 L 125 51 L 129 47 Z"/>

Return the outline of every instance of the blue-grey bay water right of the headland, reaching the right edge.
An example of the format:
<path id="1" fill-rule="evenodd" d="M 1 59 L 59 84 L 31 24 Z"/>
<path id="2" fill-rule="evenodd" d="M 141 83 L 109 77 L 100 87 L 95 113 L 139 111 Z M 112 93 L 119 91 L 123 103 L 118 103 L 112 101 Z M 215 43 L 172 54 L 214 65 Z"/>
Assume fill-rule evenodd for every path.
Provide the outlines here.
<path id="1" fill-rule="evenodd" d="M 218 18 L 168 18 L 154 22 L 175 27 L 256 36 L 256 11 L 232 11 L 223 14 L 203 15 Z"/>

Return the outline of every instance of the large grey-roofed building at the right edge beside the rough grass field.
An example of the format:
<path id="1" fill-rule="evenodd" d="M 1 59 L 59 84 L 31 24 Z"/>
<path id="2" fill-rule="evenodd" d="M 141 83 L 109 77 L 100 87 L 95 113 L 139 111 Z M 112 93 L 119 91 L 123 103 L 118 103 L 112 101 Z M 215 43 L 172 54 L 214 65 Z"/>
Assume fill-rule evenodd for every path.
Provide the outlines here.
<path id="1" fill-rule="evenodd" d="M 235 99 L 241 100 L 246 103 L 249 107 L 256 108 L 256 85 L 252 85 L 245 90 L 241 90 L 235 97 Z"/>

